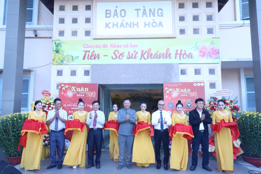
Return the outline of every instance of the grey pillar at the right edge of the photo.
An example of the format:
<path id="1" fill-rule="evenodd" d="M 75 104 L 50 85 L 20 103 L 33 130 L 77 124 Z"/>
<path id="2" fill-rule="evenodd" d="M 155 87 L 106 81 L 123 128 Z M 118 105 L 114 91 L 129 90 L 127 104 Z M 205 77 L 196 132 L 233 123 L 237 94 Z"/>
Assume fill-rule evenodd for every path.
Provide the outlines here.
<path id="1" fill-rule="evenodd" d="M 256 110 L 261 113 L 261 1 L 249 0 Z M 259 40 L 260 39 L 260 40 Z"/>

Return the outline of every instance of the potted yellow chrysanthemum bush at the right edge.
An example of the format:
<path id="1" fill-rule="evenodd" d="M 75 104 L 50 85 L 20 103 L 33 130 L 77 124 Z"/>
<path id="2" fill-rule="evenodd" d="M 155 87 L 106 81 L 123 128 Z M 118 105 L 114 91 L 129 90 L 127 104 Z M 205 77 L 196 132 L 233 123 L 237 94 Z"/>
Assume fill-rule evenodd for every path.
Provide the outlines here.
<path id="1" fill-rule="evenodd" d="M 238 129 L 240 132 L 240 147 L 244 161 L 256 167 L 261 167 L 261 114 L 259 112 L 239 112 Z"/>

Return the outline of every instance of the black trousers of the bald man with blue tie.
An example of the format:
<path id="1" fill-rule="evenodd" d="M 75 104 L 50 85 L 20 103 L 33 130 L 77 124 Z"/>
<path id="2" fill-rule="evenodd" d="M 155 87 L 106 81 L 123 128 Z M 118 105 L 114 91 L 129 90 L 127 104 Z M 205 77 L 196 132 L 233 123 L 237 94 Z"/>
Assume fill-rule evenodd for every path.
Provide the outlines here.
<path id="1" fill-rule="evenodd" d="M 155 140 L 155 157 L 157 164 L 161 164 L 161 141 L 163 143 L 163 149 L 164 149 L 164 159 L 163 164 L 169 163 L 169 131 L 168 129 L 164 132 L 159 132 L 155 129 L 154 132 L 154 140 Z"/>

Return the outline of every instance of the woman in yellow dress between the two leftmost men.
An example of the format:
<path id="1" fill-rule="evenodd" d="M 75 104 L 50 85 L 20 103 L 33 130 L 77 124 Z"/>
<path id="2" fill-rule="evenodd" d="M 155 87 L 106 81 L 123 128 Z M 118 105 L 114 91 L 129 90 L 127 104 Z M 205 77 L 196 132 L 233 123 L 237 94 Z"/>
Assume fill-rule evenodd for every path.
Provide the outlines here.
<path id="1" fill-rule="evenodd" d="M 86 123 L 87 111 L 84 111 L 84 102 L 79 99 L 78 108 L 79 111 L 73 113 L 73 120 L 79 119 L 80 122 Z M 79 134 L 79 130 L 73 131 L 72 140 L 70 142 L 67 153 L 64 157 L 63 165 L 72 166 L 73 169 L 79 165 L 79 167 L 85 166 L 86 161 L 86 143 L 87 143 L 87 127 L 84 126 L 84 130 Z"/>

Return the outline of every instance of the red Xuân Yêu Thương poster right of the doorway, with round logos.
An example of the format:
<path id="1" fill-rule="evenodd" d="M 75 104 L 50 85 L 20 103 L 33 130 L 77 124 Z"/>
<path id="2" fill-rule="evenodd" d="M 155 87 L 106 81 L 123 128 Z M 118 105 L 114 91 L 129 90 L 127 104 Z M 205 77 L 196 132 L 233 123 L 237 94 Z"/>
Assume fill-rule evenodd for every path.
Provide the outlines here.
<path id="1" fill-rule="evenodd" d="M 189 115 L 189 111 L 195 109 L 195 100 L 202 98 L 205 105 L 205 83 L 204 82 L 177 82 L 163 83 L 165 111 L 170 115 L 176 113 L 176 104 L 181 100 L 183 112 Z M 171 138 L 171 137 L 170 137 Z M 192 140 L 188 140 L 188 156 L 192 156 Z M 201 144 L 198 156 L 202 156 Z"/>

